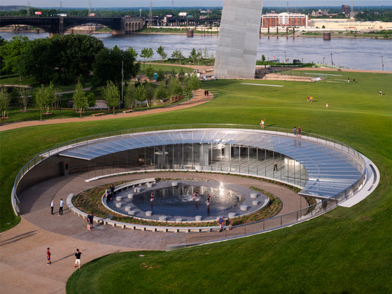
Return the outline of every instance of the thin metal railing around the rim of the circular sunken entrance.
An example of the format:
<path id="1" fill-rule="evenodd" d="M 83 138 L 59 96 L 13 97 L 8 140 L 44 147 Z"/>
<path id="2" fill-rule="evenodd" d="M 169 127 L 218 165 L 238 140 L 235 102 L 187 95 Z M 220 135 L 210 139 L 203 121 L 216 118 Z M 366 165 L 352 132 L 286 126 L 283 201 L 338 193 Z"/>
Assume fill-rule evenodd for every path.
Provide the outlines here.
<path id="1" fill-rule="evenodd" d="M 14 181 L 14 186 L 12 190 L 12 195 L 11 195 L 11 201 L 13 205 L 13 210 L 16 215 L 20 214 L 20 200 L 18 199 L 18 195 L 16 193 L 18 184 L 20 183 L 21 179 L 27 172 L 29 172 L 31 169 L 33 169 L 36 165 L 38 165 L 40 162 L 43 162 L 43 160 L 46 160 L 50 158 L 52 155 L 57 155 L 60 151 L 65 151 L 69 148 L 73 148 L 75 146 L 81 146 L 81 145 L 87 145 L 89 143 L 92 143 L 94 141 L 99 141 L 99 140 L 109 140 L 109 139 L 114 139 L 114 138 L 121 138 L 121 137 L 128 137 L 130 134 L 143 134 L 143 133 L 148 133 L 148 132 L 159 132 L 159 131 L 173 131 L 173 130 L 195 130 L 195 129 L 245 129 L 245 130 L 257 130 L 258 134 L 260 132 L 265 132 L 265 134 L 273 134 L 275 136 L 281 136 L 281 137 L 293 137 L 292 131 L 288 129 L 283 129 L 283 128 L 277 128 L 277 127 L 265 127 L 265 129 L 260 130 L 260 126 L 256 125 L 235 125 L 235 124 L 192 124 L 192 125 L 161 125 L 161 126 L 153 126 L 153 127 L 139 127 L 135 129 L 130 129 L 130 130 L 119 130 L 115 132 L 107 132 L 103 134 L 96 134 L 92 135 L 90 137 L 84 137 L 80 139 L 75 139 L 72 141 L 67 141 L 63 144 L 59 144 L 57 146 L 54 146 L 43 153 L 37 155 L 33 159 L 31 159 L 27 164 L 20 169 L 20 172 L 15 178 Z M 361 173 L 360 179 L 356 181 L 356 183 L 353 183 L 349 188 L 344 189 L 342 192 L 338 193 L 337 195 L 330 197 L 328 200 L 324 200 L 321 203 L 326 203 L 327 201 L 334 200 L 335 207 L 337 203 L 348 199 L 351 197 L 357 190 L 360 189 L 361 186 L 363 186 L 363 183 L 365 181 L 365 161 L 363 160 L 362 156 L 360 153 L 355 151 L 353 148 L 340 143 L 339 141 L 329 139 L 324 136 L 320 136 L 318 134 L 311 134 L 307 132 L 302 132 L 302 140 L 307 140 L 311 141 L 316 144 L 321 144 L 321 145 L 326 145 L 330 146 L 331 148 L 345 153 L 346 155 L 349 156 L 349 159 L 351 161 L 351 165 L 356 167 L 356 169 Z M 318 205 L 318 204 L 317 204 Z M 329 207 L 329 205 L 327 205 Z M 328 209 L 331 209 L 332 207 L 329 207 Z M 297 223 L 298 221 L 303 221 L 302 218 L 306 216 L 306 214 L 302 214 L 302 212 L 306 210 L 309 211 L 309 207 L 302 209 L 301 211 L 294 211 L 290 214 L 286 214 L 284 216 L 279 216 L 275 218 L 269 218 L 267 220 L 257 222 L 257 223 L 251 223 L 247 225 L 241 225 L 235 230 L 230 230 L 230 234 L 237 234 L 239 230 L 241 230 L 242 233 L 240 235 L 249 235 L 249 234 L 255 234 L 256 232 L 262 232 L 265 230 L 273 230 L 275 228 L 280 228 L 281 226 L 284 225 L 290 225 L 293 223 Z M 319 209 L 310 209 L 311 214 L 309 214 L 309 217 L 314 216 L 314 211 L 320 211 Z M 326 210 L 323 209 L 320 213 L 325 212 Z M 296 221 L 294 216 L 296 217 Z M 300 216 L 300 217 L 299 217 Z M 307 218 L 306 218 L 307 219 Z M 256 225 L 258 223 L 262 223 L 262 229 L 260 230 L 260 226 Z M 275 224 L 275 225 L 274 225 Z M 244 227 L 244 228 L 243 228 Z M 188 233 L 188 234 L 193 234 L 193 233 Z M 197 234 L 205 234 L 205 232 L 200 232 Z M 225 233 L 226 234 L 226 233 Z M 202 236 L 202 235 L 198 235 Z M 211 236 L 207 238 L 207 241 L 212 241 Z M 223 235 L 220 233 L 217 237 L 221 238 Z M 173 246 L 173 241 L 170 240 L 170 236 L 167 236 L 167 246 Z M 179 236 L 176 236 L 176 239 L 179 238 Z M 199 239 L 202 239 L 200 237 L 197 237 Z M 228 237 L 226 237 L 228 238 Z M 187 240 L 187 238 L 184 238 L 185 243 L 180 243 L 183 246 L 188 246 L 190 244 L 195 244 L 192 240 Z M 202 241 L 204 242 L 204 241 Z M 197 241 L 197 243 L 200 243 Z M 179 245 L 179 244 L 177 244 Z"/>

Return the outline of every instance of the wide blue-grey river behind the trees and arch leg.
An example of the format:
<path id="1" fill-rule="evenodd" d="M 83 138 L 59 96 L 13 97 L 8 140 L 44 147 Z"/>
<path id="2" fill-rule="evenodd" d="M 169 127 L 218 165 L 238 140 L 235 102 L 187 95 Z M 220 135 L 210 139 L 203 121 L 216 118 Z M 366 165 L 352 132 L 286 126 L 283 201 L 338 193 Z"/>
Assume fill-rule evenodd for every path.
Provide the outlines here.
<path id="1" fill-rule="evenodd" d="M 0 36 L 10 40 L 16 34 L 13 32 L 0 32 Z M 30 39 L 48 37 L 47 33 L 34 32 L 21 33 Z M 112 36 L 111 34 L 93 34 L 104 42 L 108 48 L 118 45 L 121 49 L 133 47 L 137 52 L 142 48 L 153 48 L 155 59 L 159 59 L 157 48 L 162 45 L 172 55 L 173 50 L 179 49 L 188 57 L 193 48 L 207 47 L 210 54 L 215 55 L 218 36 L 199 36 L 188 38 L 186 35 L 176 34 L 130 34 L 125 36 Z M 332 53 L 332 55 L 331 55 Z M 286 54 L 286 57 L 285 57 Z M 375 38 L 332 38 L 323 41 L 323 38 L 276 38 L 262 36 L 258 40 L 258 59 L 265 55 L 266 59 L 300 59 L 303 62 L 316 62 L 347 69 L 382 70 L 381 60 L 384 60 L 384 70 L 392 71 L 392 41 Z M 381 59 L 382 56 L 382 59 Z"/>

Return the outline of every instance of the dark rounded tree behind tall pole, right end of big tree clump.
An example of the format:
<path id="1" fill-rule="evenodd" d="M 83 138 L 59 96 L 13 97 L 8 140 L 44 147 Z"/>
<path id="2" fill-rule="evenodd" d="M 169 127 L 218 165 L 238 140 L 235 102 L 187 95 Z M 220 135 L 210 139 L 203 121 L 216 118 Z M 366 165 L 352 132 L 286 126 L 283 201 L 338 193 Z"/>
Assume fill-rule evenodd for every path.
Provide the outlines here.
<path id="1" fill-rule="evenodd" d="M 135 63 L 132 52 L 124 51 L 114 46 L 113 49 L 104 48 L 99 51 L 92 67 L 94 71 L 92 84 L 97 87 L 105 85 L 108 80 L 111 80 L 116 85 L 120 84 L 122 70 L 125 80 L 134 78 L 139 72 L 140 65 Z"/>

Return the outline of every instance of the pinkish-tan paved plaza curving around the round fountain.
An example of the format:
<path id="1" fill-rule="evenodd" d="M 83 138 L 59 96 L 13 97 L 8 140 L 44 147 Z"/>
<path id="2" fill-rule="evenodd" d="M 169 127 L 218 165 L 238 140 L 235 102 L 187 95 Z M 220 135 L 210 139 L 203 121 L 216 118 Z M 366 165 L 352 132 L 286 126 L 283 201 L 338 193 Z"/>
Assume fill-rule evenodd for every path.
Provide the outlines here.
<path id="1" fill-rule="evenodd" d="M 65 293 L 65 285 L 73 273 L 73 253 L 83 251 L 82 265 L 102 255 L 120 251 L 165 250 L 165 233 L 143 232 L 98 225 L 87 231 L 83 218 L 64 208 L 64 214 L 50 214 L 50 201 L 69 193 L 111 181 L 136 180 L 146 177 L 209 179 L 246 187 L 255 186 L 279 195 L 283 202 L 281 214 L 304 207 L 304 200 L 291 190 L 271 183 L 237 176 L 213 174 L 134 174 L 101 179 L 86 183 L 86 174 L 50 179 L 25 190 L 20 195 L 22 221 L 15 228 L 1 233 L 0 238 L 0 284 L 1 293 Z M 300 203 L 302 202 L 302 203 Z M 235 229 L 233 230 L 235 231 Z M 170 233 L 172 234 L 172 233 Z M 46 248 L 50 247 L 52 265 L 46 265 Z M 82 269 L 83 270 L 83 267 Z"/>

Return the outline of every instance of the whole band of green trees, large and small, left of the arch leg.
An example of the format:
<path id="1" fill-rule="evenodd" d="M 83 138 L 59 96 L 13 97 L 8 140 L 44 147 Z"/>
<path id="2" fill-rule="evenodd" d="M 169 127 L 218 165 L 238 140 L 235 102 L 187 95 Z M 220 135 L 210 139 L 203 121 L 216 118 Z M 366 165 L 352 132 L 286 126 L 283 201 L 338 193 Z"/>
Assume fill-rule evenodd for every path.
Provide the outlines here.
<path id="1" fill-rule="evenodd" d="M 160 46 L 156 52 L 163 62 L 167 57 L 165 48 Z M 190 57 L 196 59 L 197 52 L 201 51 L 194 49 Z M 153 54 L 152 48 L 141 50 L 141 57 L 145 59 L 150 59 Z M 42 84 L 34 94 L 34 106 L 41 110 L 41 119 L 43 111 L 49 113 L 50 107 L 55 108 L 59 104 L 60 89 L 55 84 L 64 85 L 75 77 L 78 77 L 78 81 L 72 99 L 80 116 L 87 107 L 95 106 L 94 94 L 83 91 L 84 79 L 90 80 L 93 88 L 103 86 L 102 98 L 113 112 L 120 102 L 128 108 L 134 107 L 137 101 L 147 101 L 150 106 L 154 100 L 163 102 L 168 97 L 189 95 L 192 90 L 200 88 L 199 78 L 187 75 L 182 69 L 179 73 L 173 69 L 169 74 L 162 70 L 155 74 L 151 66 L 145 70 L 149 80 L 130 83 L 140 73 L 137 55 L 132 47 L 127 50 L 117 46 L 104 48 L 102 41 L 89 35 L 57 35 L 32 41 L 25 36 L 14 36 L 10 41 L 0 37 L 1 74 L 18 73 L 21 78 L 32 76 Z M 176 50 L 174 55 L 180 58 L 181 63 L 181 51 Z M 120 94 L 122 80 L 125 81 L 123 97 Z M 151 80 L 156 82 L 151 83 Z M 26 92 L 25 87 L 20 87 L 17 93 L 25 111 L 29 100 Z M 2 117 L 6 116 L 10 100 L 10 93 L 3 88 L 0 92 Z"/>

